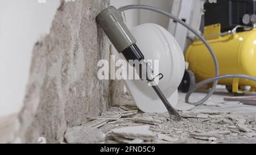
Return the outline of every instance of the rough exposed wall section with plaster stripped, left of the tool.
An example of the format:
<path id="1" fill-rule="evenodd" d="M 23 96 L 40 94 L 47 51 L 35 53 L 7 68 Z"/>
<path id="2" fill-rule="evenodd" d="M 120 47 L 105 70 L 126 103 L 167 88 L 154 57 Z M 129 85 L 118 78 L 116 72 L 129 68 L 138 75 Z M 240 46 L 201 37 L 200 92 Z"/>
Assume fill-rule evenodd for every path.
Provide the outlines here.
<path id="1" fill-rule="evenodd" d="M 96 23 L 108 0 L 61 2 L 50 33 L 32 52 L 30 78 L 19 114 L 19 138 L 63 141 L 67 127 L 99 115 L 110 102 L 109 81 L 97 78 L 97 62 L 109 60 L 109 41 Z"/>

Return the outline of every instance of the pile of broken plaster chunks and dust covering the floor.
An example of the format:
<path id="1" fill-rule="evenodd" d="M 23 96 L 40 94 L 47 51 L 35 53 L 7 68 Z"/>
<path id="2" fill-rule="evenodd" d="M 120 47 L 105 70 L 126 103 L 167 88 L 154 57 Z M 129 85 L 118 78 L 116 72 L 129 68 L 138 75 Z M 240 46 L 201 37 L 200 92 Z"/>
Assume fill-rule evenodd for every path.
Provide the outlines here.
<path id="1" fill-rule="evenodd" d="M 256 142 L 256 114 L 249 117 L 185 104 L 179 110 L 183 120 L 175 122 L 167 112 L 148 114 L 133 106 L 111 107 L 101 116 L 90 116 L 79 127 L 69 128 L 65 143 L 229 143 L 240 139 Z M 90 140 L 86 135 L 90 135 Z"/>

